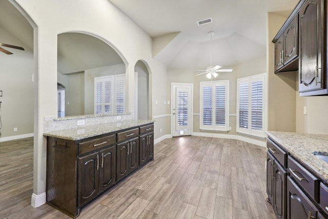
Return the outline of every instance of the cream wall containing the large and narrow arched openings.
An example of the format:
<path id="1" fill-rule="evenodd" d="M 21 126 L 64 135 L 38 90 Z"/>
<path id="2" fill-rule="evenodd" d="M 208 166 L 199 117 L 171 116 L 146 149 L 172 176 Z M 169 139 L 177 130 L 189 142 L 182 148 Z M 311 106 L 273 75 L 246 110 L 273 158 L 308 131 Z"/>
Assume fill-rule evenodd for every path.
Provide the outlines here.
<path id="1" fill-rule="evenodd" d="M 152 58 L 152 39 L 126 15 L 107 0 L 16 0 L 23 13 L 34 23 L 34 65 L 36 89 L 34 101 L 34 183 L 32 205 L 46 201 L 46 138 L 43 136 L 46 116 L 57 111 L 57 35 L 76 31 L 90 33 L 108 43 L 126 64 L 128 111 L 134 113 L 134 66 L 142 59 L 151 72 L 151 96 L 160 102 L 167 99 L 166 68 Z M 95 16 L 96 14 L 96 16 Z M 153 89 L 154 88 L 154 89 Z M 152 107 L 151 115 L 166 113 Z M 156 121 L 157 122 L 157 121 Z M 155 138 L 165 135 L 166 120 L 155 123 Z M 158 125 L 165 132 L 158 131 Z"/>

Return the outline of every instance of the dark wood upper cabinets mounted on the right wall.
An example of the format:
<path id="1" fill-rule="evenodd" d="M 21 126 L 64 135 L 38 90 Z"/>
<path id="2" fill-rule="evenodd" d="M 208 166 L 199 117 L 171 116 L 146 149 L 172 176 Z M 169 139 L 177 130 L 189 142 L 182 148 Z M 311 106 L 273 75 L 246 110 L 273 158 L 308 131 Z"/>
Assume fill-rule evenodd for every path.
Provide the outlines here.
<path id="1" fill-rule="evenodd" d="M 272 41 L 275 73 L 298 70 L 300 96 L 328 94 L 326 1 L 300 0 Z"/>

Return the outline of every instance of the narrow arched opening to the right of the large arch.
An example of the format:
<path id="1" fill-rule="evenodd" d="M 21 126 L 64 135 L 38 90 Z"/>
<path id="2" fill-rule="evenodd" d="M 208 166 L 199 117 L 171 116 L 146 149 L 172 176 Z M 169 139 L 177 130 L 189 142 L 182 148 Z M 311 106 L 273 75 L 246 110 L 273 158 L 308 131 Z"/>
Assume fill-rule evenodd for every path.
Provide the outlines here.
<path id="1" fill-rule="evenodd" d="M 136 118 L 149 120 L 150 113 L 150 76 L 144 62 L 138 61 L 134 67 L 136 79 Z"/>

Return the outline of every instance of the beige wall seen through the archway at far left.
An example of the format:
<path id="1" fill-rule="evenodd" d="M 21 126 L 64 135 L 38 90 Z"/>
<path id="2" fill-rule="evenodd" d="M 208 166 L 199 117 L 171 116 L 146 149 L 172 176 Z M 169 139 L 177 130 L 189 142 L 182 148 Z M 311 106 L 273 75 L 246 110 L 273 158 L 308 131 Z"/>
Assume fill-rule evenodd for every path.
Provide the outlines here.
<path id="1" fill-rule="evenodd" d="M 0 97 L 1 135 L 0 142 L 13 139 L 13 136 L 33 136 L 34 82 L 32 82 L 33 51 L 0 27 L 2 43 L 22 46 L 25 51 L 6 48 L 13 52 L 7 55 L 0 52 Z M 17 128 L 17 131 L 14 131 Z"/>

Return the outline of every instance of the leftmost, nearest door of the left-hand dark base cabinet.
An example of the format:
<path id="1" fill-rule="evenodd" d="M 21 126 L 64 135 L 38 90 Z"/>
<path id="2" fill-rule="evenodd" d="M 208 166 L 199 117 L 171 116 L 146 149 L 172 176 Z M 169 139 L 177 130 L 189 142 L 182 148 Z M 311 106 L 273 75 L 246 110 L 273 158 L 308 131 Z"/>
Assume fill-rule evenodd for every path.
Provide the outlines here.
<path id="1" fill-rule="evenodd" d="M 83 206 L 98 195 L 98 152 L 78 158 L 78 164 L 79 206 Z"/>

